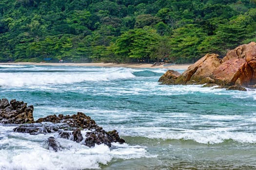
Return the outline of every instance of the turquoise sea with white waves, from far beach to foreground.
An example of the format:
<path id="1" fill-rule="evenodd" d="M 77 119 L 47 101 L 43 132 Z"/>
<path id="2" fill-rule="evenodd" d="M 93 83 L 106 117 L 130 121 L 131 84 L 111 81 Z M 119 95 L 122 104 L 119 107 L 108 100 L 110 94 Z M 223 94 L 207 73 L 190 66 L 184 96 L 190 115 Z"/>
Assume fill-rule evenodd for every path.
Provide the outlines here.
<path id="1" fill-rule="evenodd" d="M 35 119 L 83 112 L 126 140 L 90 149 L 59 139 L 55 153 L 42 143 L 58 134 L 0 125 L 0 170 L 256 169 L 256 91 L 159 85 L 166 70 L 0 65 L 0 98 L 34 105 Z"/>

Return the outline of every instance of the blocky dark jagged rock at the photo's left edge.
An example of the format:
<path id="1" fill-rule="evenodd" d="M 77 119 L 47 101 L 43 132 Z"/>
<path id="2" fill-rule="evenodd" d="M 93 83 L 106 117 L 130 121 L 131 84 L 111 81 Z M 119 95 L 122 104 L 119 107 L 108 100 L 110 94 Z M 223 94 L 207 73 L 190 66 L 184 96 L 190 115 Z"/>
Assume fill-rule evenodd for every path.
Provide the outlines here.
<path id="1" fill-rule="evenodd" d="M 33 123 L 33 105 L 27 106 L 27 103 L 7 99 L 0 100 L 0 123 Z"/>

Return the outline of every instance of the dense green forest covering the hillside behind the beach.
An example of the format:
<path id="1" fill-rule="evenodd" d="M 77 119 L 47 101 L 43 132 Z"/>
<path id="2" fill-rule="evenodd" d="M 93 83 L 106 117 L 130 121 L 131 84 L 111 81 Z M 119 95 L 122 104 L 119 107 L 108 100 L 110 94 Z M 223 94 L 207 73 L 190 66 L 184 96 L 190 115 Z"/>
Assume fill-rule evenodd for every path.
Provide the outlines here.
<path id="1" fill-rule="evenodd" d="M 0 62 L 191 63 L 256 41 L 256 0 L 0 0 Z"/>

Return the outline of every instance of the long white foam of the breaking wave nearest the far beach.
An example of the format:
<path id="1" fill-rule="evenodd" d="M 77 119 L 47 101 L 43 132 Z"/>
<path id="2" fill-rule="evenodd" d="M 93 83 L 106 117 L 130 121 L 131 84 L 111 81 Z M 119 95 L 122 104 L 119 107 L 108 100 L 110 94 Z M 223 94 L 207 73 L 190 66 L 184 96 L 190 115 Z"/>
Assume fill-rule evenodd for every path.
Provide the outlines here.
<path id="1" fill-rule="evenodd" d="M 109 81 L 135 77 L 130 71 L 72 72 L 72 73 L 0 73 L 0 86 L 21 87 L 34 85 L 73 84 L 90 81 Z"/>

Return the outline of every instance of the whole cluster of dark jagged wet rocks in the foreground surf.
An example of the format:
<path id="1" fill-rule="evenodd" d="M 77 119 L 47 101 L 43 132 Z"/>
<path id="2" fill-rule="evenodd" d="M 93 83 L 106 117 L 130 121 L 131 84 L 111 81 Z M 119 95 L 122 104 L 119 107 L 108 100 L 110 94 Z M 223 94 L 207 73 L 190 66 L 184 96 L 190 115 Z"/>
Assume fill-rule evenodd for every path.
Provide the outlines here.
<path id="1" fill-rule="evenodd" d="M 1 123 L 20 124 L 14 128 L 14 132 L 28 133 L 30 135 L 58 133 L 59 138 L 76 141 L 88 147 L 95 144 L 105 144 L 111 147 L 111 142 L 124 143 L 116 130 L 106 132 L 99 127 L 89 116 L 78 112 L 76 115 L 50 115 L 34 121 L 33 106 L 28 106 L 24 102 L 7 99 L 0 102 L 0 121 Z M 83 137 L 81 130 L 88 130 Z M 44 147 L 58 152 L 61 146 L 58 138 L 49 137 L 44 141 Z"/>

